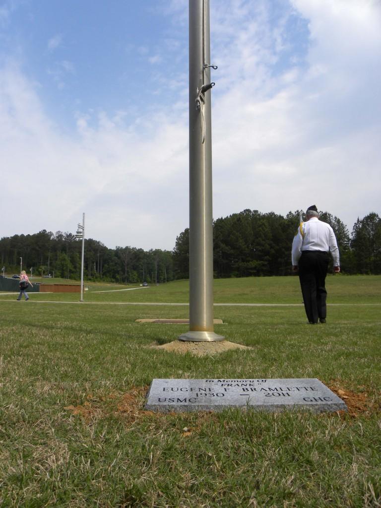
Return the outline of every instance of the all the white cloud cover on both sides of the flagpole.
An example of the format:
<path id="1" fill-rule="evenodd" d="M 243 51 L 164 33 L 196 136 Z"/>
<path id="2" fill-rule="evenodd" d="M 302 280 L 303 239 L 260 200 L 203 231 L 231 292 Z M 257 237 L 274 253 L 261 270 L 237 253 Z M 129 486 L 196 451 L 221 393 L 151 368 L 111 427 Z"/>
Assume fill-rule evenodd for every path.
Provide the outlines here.
<path id="1" fill-rule="evenodd" d="M 272 5 L 211 2 L 214 217 L 316 203 L 351 229 L 357 216 L 380 213 L 379 6 L 293 0 L 275 15 Z M 183 27 L 176 2 L 168 12 Z M 148 47 L 138 51 L 147 60 Z M 3 236 L 74 231 L 85 211 L 88 235 L 110 247 L 174 246 L 188 225 L 186 80 L 155 69 L 169 106 L 133 117 L 123 107 L 79 111 L 70 137 L 17 66 L 1 70 L 0 153 L 12 175 Z M 75 68 L 61 60 L 51 72 L 64 86 Z M 33 198 L 20 206 L 25 185 Z"/>

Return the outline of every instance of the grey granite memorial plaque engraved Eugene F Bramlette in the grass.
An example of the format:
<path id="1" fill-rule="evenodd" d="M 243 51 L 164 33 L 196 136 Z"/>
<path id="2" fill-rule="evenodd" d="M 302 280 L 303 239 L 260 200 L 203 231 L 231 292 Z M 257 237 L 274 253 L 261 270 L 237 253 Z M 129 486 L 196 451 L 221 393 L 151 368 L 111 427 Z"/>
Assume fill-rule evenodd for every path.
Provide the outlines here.
<path id="1" fill-rule="evenodd" d="M 151 411 L 347 410 L 319 379 L 153 379 L 145 408 Z"/>

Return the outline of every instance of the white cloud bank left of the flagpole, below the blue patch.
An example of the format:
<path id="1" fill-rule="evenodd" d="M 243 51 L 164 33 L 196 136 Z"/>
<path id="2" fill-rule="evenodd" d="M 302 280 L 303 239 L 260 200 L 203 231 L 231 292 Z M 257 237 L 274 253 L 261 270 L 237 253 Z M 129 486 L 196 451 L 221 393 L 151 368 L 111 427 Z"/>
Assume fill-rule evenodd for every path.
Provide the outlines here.
<path id="1" fill-rule="evenodd" d="M 0 151 L 12 175 L 2 216 L 13 215 L 24 189 L 30 196 L 26 213 L 12 216 L 9 229 L 4 221 L 2 236 L 71 230 L 85 211 L 88 235 L 110 247 L 174 246 L 187 220 L 184 118 L 157 114 L 125 126 L 123 112 L 89 112 L 78 116 L 80 137 L 70 139 L 44 115 L 17 68 L 3 71 L 0 91 Z"/>

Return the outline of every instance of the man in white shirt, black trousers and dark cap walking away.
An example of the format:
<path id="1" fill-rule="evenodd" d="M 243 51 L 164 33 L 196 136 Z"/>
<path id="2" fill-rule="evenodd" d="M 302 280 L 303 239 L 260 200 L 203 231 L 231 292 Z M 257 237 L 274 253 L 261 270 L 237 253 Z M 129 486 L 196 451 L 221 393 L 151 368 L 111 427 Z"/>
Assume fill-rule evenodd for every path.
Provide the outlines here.
<path id="1" fill-rule="evenodd" d="M 304 308 L 308 323 L 326 322 L 327 291 L 325 288 L 329 252 L 335 272 L 340 271 L 339 249 L 331 226 L 319 220 L 315 205 L 306 211 L 306 221 L 301 223 L 292 246 L 293 270 L 299 270 Z"/>

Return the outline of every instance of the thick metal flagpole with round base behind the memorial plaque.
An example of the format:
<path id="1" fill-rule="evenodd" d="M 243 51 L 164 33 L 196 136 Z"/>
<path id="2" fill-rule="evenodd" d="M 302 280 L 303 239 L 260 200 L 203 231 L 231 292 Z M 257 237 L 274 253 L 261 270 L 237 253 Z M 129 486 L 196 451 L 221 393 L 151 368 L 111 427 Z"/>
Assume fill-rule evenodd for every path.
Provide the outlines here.
<path id="1" fill-rule="evenodd" d="M 215 341 L 209 0 L 189 0 L 189 331 Z"/>

